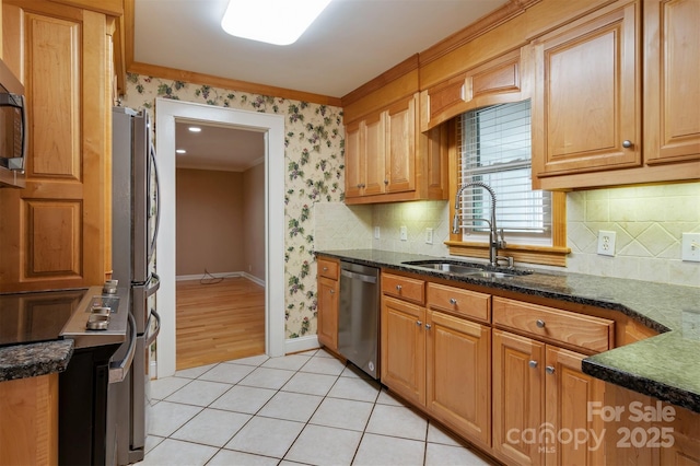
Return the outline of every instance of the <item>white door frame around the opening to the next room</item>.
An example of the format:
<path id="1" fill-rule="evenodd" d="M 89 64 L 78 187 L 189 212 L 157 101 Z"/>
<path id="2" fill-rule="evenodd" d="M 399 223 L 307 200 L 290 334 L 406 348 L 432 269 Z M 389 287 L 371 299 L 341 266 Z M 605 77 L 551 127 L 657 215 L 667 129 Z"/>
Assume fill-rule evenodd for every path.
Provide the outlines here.
<path id="1" fill-rule="evenodd" d="M 175 373 L 175 120 L 197 119 L 265 132 L 265 352 L 284 356 L 284 117 L 168 98 L 155 100 L 161 224 L 156 270 L 158 376 Z"/>

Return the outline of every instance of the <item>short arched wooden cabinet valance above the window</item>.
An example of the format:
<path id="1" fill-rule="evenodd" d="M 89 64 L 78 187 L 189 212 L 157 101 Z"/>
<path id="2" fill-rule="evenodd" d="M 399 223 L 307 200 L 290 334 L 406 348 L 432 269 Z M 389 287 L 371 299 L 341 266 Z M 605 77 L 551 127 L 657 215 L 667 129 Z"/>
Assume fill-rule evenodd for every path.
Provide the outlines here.
<path id="1" fill-rule="evenodd" d="M 529 59 L 523 47 L 423 90 L 421 131 L 474 108 L 529 98 Z"/>

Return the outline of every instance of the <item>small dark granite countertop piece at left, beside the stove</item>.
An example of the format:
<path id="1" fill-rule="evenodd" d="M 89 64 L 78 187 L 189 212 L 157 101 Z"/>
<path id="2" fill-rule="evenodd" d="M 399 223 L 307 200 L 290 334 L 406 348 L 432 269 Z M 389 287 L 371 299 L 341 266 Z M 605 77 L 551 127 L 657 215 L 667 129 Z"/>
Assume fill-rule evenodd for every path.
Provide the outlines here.
<path id="1" fill-rule="evenodd" d="M 0 348 L 0 382 L 63 372 L 73 354 L 73 340 Z"/>

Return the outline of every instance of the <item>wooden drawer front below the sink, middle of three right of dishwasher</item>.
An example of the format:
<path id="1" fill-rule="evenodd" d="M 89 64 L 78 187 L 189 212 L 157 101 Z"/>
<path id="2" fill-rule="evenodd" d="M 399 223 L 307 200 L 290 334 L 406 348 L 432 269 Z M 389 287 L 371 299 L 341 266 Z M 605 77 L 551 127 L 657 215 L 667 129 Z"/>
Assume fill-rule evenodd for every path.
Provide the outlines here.
<path id="1" fill-rule="evenodd" d="M 489 322 L 491 295 L 444 284 L 428 283 L 428 306 Z"/>

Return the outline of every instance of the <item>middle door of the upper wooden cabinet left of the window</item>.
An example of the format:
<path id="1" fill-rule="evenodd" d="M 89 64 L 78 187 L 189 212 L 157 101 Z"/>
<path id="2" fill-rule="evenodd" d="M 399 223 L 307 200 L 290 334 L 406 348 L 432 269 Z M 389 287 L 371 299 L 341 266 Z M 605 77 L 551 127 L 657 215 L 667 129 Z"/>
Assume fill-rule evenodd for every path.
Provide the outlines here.
<path id="1" fill-rule="evenodd" d="M 386 114 L 369 117 L 363 121 L 362 154 L 364 160 L 363 195 L 372 196 L 386 190 Z"/>

